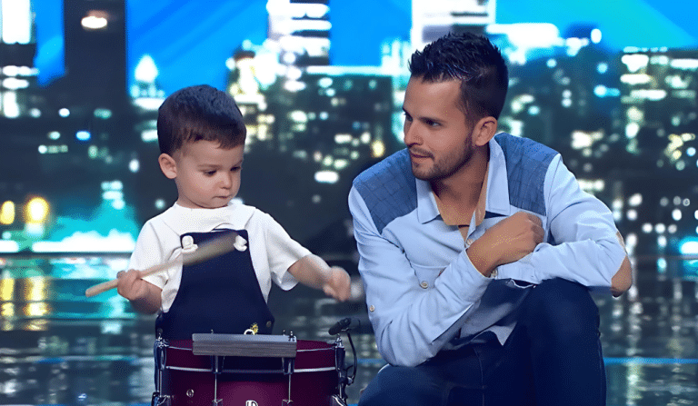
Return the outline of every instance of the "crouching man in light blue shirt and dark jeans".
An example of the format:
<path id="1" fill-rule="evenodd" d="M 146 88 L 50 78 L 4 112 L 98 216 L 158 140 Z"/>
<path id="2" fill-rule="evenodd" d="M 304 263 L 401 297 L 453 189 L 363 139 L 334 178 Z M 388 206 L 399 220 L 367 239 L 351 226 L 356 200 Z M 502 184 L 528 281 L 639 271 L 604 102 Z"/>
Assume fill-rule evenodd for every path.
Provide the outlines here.
<path id="1" fill-rule="evenodd" d="M 613 216 L 558 153 L 496 134 L 508 74 L 484 36 L 446 35 L 410 70 L 407 148 L 349 194 L 390 364 L 360 404 L 605 404 L 588 288 L 632 282 Z"/>

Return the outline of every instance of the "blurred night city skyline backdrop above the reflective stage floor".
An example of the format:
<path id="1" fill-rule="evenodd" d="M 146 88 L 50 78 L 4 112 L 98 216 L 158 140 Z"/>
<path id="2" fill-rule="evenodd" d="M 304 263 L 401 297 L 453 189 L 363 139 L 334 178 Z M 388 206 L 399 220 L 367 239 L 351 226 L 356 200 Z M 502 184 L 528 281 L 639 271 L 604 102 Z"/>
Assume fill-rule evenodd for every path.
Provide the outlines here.
<path id="1" fill-rule="evenodd" d="M 201 83 L 230 92 L 243 110 L 243 201 L 274 215 L 302 243 L 352 252 L 344 236 L 346 194 L 357 173 L 402 147 L 409 55 L 434 35 L 473 30 L 490 35 L 510 63 L 501 131 L 561 152 L 583 188 L 612 207 L 629 249 L 639 239 L 652 253 L 684 243 L 698 253 L 698 192 L 686 184 L 698 146 L 698 29 L 675 6 L 655 0 L 562 8 L 510 0 L 353 8 L 328 0 L 2 5 L 5 165 L 25 162 L 41 171 L 0 182 L 6 195 L 0 249 L 8 252 L 29 244 L 42 252 L 105 246 L 129 252 L 140 225 L 175 197 L 155 165 L 157 106 L 176 89 Z M 370 24 L 374 19 L 383 24 Z M 101 28 L 90 25 L 107 20 Z M 620 20 L 652 29 L 628 29 Z M 30 39 L 13 44 L 14 38 Z M 664 191 L 648 188 L 650 179 Z M 36 195 L 47 215 L 15 222 Z M 304 207 L 314 208 L 316 221 L 296 215 Z"/>

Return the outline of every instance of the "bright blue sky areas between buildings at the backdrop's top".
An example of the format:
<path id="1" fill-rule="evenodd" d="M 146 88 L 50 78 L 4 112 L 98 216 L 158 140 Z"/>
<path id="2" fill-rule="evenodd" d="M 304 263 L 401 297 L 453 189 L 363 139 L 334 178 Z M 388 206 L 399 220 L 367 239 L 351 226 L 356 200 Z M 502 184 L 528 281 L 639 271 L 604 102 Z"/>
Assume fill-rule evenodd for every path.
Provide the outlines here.
<path id="1" fill-rule="evenodd" d="M 698 4 L 663 0 L 584 2 L 498 0 L 496 24 L 549 23 L 564 33 L 573 25 L 595 25 L 601 45 L 613 52 L 626 46 L 698 48 Z M 39 84 L 64 74 L 61 0 L 34 0 L 36 67 Z M 384 41 L 410 39 L 412 2 L 356 0 L 330 2 L 330 64 L 381 62 Z M 202 3 L 195 0 L 126 2 L 126 52 L 129 84 L 145 54 L 160 70 L 165 94 L 191 84 L 224 88 L 225 60 L 245 40 L 261 45 L 267 35 L 267 0 Z M 359 20 L 356 10 L 365 10 Z M 192 18 L 195 15 L 196 18 Z"/>

